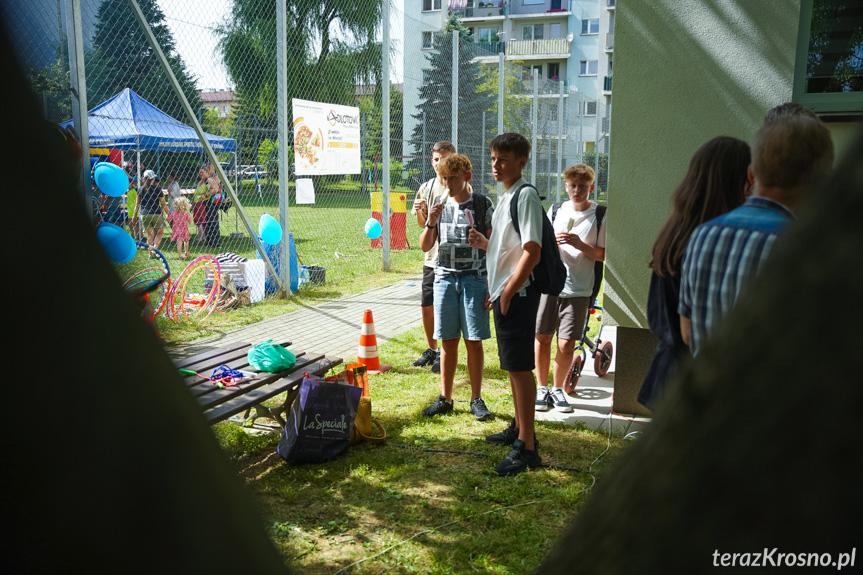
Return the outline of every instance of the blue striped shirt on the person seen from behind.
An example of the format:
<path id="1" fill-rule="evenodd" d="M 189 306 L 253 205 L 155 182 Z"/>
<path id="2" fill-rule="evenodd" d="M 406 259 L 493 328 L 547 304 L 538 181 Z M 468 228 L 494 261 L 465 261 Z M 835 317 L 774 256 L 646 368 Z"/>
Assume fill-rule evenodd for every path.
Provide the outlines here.
<path id="1" fill-rule="evenodd" d="M 758 275 L 776 237 L 793 219 L 782 204 L 749 198 L 692 232 L 683 256 L 677 312 L 692 321 L 693 356 Z"/>

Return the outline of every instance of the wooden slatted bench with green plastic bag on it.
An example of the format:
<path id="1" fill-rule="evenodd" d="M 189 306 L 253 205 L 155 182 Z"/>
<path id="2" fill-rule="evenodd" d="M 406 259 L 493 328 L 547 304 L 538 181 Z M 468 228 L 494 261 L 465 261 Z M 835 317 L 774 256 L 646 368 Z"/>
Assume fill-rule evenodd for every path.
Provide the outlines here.
<path id="1" fill-rule="evenodd" d="M 290 342 L 282 343 L 284 347 Z M 231 369 L 256 371 L 249 367 L 246 353 L 252 348 L 248 343 L 234 343 L 211 351 L 205 351 L 174 362 L 178 369 L 188 369 L 209 377 L 213 370 L 223 363 Z M 183 379 L 189 392 L 195 397 L 210 424 L 224 421 L 238 413 L 244 413 L 244 422 L 254 422 L 259 417 L 275 419 L 284 427 L 283 414 L 290 409 L 299 393 L 303 373 L 323 375 L 330 368 L 342 363 L 340 357 L 326 357 L 304 351 L 290 350 L 297 362 L 291 369 L 276 373 L 258 372 L 254 379 L 244 380 L 237 386 L 219 388 L 213 382 L 197 375 L 186 375 Z M 262 403 L 279 394 L 287 392 L 285 401 L 277 407 L 267 407 Z M 254 411 L 254 414 L 252 412 Z"/>

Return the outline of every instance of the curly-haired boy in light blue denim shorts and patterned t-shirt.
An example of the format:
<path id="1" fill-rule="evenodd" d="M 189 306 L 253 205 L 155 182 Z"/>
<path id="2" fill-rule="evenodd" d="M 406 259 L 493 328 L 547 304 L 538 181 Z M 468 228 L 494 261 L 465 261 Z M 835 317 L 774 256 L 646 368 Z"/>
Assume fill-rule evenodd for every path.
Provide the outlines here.
<path id="1" fill-rule="evenodd" d="M 422 411 L 427 417 L 453 410 L 452 387 L 458 361 L 458 342 L 464 338 L 470 378 L 470 409 L 479 420 L 491 417 L 481 396 L 484 355 L 482 340 L 491 337 L 485 251 L 471 247 L 468 234 L 491 235 L 494 211 L 491 200 L 472 192 L 471 164 L 467 156 L 450 154 L 438 165 L 445 186 L 440 199 L 428 209 L 428 223 L 420 234 L 424 252 L 437 245 L 434 279 L 434 337 L 441 340 L 441 394 Z"/>

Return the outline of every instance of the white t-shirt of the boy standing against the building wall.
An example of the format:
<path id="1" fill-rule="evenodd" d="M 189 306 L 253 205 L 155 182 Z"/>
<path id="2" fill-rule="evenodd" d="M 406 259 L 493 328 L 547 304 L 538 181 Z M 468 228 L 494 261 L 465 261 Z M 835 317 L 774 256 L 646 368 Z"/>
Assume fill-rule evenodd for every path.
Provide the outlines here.
<path id="1" fill-rule="evenodd" d="M 549 219 L 551 219 L 551 211 L 552 209 L 549 208 Z M 597 234 L 595 203 L 591 203 L 583 212 L 578 212 L 572 202 L 564 202 L 557 210 L 557 217 L 552 222 L 555 233 L 567 231 L 566 228 L 570 219 L 573 221 L 573 225 L 569 233 L 576 234 L 581 241 L 588 245 L 598 248 L 605 247 L 605 218 L 603 218 L 602 226 Z M 590 296 L 593 291 L 593 265 L 596 260 L 590 259 L 581 250 L 569 244 L 562 244 L 559 248 L 560 259 L 566 267 L 566 283 L 563 285 L 560 297 Z"/>

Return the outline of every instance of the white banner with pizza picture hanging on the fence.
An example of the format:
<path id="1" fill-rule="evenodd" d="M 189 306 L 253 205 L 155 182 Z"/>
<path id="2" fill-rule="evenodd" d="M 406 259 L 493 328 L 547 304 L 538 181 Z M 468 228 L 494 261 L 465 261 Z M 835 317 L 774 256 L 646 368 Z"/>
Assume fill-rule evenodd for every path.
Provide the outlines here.
<path id="1" fill-rule="evenodd" d="M 359 174 L 360 109 L 296 98 L 292 104 L 296 174 Z"/>

